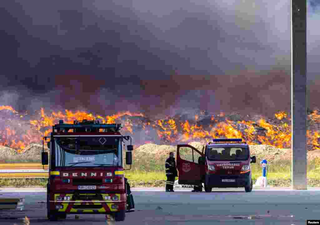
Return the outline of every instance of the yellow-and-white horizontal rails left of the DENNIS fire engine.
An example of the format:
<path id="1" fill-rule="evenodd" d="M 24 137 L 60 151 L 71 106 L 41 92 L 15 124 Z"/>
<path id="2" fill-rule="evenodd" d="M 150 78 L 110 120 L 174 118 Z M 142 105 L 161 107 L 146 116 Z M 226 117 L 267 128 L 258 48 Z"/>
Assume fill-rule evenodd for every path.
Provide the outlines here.
<path id="1" fill-rule="evenodd" d="M 47 178 L 48 166 L 40 163 L 0 164 L 0 178 Z"/>

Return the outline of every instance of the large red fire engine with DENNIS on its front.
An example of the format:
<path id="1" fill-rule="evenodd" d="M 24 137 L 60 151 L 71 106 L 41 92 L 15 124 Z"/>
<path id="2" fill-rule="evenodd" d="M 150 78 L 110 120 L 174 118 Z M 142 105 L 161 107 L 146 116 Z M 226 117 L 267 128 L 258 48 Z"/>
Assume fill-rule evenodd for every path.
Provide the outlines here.
<path id="1" fill-rule="evenodd" d="M 127 195 L 123 153 L 131 169 L 133 145 L 130 136 L 121 135 L 121 128 L 121 124 L 98 120 L 73 124 L 60 120 L 52 126 L 51 135 L 43 138 L 43 145 L 50 138 L 50 154 L 42 151 L 42 165 L 49 164 L 50 221 L 65 219 L 67 214 L 111 214 L 116 221 L 124 221 L 132 195 Z"/>

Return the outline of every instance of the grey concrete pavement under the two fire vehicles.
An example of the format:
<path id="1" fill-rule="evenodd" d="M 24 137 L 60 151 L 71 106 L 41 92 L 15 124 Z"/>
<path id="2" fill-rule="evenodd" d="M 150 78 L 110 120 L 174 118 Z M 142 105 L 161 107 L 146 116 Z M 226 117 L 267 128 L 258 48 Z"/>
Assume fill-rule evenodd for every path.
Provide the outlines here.
<path id="1" fill-rule="evenodd" d="M 320 188 L 290 190 L 219 189 L 212 193 L 193 193 L 180 189 L 174 193 L 163 188 L 132 188 L 136 212 L 127 213 L 124 222 L 106 221 L 104 215 L 68 215 L 66 220 L 46 220 L 45 189 L 1 189 L 0 194 L 26 198 L 24 212 L 3 211 L 3 225 L 23 224 L 30 218 L 36 224 L 306 224 L 307 219 L 320 219 Z"/>

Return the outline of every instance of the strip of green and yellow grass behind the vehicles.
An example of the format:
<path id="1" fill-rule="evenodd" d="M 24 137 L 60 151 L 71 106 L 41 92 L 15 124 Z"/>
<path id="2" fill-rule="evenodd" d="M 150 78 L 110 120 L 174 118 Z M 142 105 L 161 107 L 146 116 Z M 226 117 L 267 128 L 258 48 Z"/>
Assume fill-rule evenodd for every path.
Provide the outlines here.
<path id="1" fill-rule="evenodd" d="M 132 169 L 125 171 L 125 176 L 128 178 L 132 187 L 164 187 L 166 176 L 164 171 L 164 162 L 166 157 L 154 159 L 148 157 L 137 157 L 134 159 Z M 4 159 L 6 162 L 38 162 L 30 159 Z M 252 180 L 255 183 L 258 177 L 262 175 L 262 168 L 259 163 L 252 163 Z M 307 165 L 308 186 L 320 187 L 320 159 L 314 159 L 308 162 Z M 176 179 L 178 179 L 176 177 Z M 46 187 L 47 178 L 43 179 L 0 179 L 0 187 Z M 274 187 L 290 187 L 291 186 L 291 161 L 278 160 L 274 161 L 268 168 L 268 184 Z"/>

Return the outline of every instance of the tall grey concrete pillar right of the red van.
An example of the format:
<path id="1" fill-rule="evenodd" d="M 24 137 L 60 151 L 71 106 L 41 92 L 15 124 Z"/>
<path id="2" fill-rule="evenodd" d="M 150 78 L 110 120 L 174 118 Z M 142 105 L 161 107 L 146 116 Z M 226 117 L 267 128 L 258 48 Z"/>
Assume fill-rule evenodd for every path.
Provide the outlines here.
<path id="1" fill-rule="evenodd" d="M 291 0 L 292 190 L 307 190 L 307 1 Z"/>

